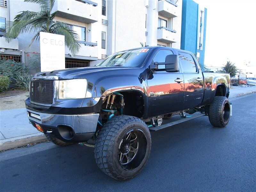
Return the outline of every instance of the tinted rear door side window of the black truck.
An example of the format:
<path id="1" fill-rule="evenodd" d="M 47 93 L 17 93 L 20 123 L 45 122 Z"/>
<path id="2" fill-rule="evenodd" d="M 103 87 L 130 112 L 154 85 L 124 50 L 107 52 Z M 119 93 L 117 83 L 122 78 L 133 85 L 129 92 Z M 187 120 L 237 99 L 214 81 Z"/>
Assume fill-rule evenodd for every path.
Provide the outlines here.
<path id="1" fill-rule="evenodd" d="M 182 53 L 182 52 L 179 52 L 178 55 L 179 55 L 180 65 L 182 66 L 183 71 L 187 73 L 189 72 L 195 73 L 196 64 L 193 57 L 188 53 Z"/>

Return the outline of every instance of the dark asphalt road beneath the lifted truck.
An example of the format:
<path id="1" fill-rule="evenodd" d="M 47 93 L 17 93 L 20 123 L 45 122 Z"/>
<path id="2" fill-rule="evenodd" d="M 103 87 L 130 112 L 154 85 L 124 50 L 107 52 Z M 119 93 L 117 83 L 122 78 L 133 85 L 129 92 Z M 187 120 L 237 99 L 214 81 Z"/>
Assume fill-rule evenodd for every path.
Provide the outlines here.
<path id="1" fill-rule="evenodd" d="M 151 132 L 148 163 L 132 180 L 101 172 L 93 148 L 40 143 L 0 154 L 0 190 L 256 191 L 256 94 L 231 102 L 225 128 L 203 116 Z"/>

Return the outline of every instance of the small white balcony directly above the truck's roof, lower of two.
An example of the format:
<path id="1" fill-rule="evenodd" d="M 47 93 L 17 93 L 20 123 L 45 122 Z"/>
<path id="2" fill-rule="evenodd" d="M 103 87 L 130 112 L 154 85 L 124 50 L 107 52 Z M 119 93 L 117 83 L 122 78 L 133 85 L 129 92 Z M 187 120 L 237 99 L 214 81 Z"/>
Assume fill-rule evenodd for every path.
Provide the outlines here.
<path id="1" fill-rule="evenodd" d="M 158 27 L 157 40 L 164 43 L 176 43 L 178 41 L 178 34 L 175 30 L 166 27 Z"/>

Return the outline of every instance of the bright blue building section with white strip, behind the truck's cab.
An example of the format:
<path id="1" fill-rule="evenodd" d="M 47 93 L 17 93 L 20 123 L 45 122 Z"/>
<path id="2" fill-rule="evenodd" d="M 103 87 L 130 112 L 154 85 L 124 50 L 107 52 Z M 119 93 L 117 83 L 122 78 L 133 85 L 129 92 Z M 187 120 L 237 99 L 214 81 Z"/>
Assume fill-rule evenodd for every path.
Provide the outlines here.
<path id="1" fill-rule="evenodd" d="M 192 0 L 182 1 L 182 24 L 180 49 L 195 54 L 204 69 L 207 9 Z"/>

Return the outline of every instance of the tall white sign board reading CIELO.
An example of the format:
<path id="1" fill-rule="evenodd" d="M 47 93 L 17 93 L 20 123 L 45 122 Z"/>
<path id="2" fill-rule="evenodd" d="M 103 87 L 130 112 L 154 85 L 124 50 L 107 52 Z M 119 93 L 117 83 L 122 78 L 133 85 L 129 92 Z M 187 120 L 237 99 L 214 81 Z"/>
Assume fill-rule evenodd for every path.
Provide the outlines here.
<path id="1" fill-rule="evenodd" d="M 41 71 L 65 69 L 65 36 L 40 32 Z"/>

